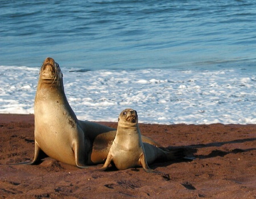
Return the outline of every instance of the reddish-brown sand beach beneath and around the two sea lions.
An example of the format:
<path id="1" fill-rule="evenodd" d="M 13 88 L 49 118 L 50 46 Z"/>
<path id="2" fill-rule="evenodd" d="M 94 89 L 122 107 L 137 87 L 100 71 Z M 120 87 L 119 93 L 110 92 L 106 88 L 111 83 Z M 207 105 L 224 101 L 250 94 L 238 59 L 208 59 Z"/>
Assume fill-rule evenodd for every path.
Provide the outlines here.
<path id="1" fill-rule="evenodd" d="M 116 127 L 117 123 L 101 122 Z M 255 198 L 256 125 L 140 125 L 193 161 L 142 168 L 79 169 L 49 157 L 39 165 L 4 165 L 34 157 L 34 115 L 0 114 L 0 198 Z"/>

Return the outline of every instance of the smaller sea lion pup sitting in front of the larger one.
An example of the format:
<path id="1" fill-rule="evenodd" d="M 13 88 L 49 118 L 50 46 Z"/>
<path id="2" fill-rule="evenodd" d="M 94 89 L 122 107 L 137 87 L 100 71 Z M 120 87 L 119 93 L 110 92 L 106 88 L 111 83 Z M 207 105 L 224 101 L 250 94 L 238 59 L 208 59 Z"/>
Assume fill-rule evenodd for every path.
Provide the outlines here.
<path id="1" fill-rule="evenodd" d="M 110 148 L 108 157 L 101 171 L 105 171 L 110 163 L 114 163 L 119 170 L 142 166 L 146 172 L 154 172 L 148 167 L 156 159 L 174 159 L 173 152 L 165 152 L 162 149 L 148 143 L 143 143 L 141 131 L 138 126 L 137 111 L 125 109 L 118 118 L 117 135 Z"/>

